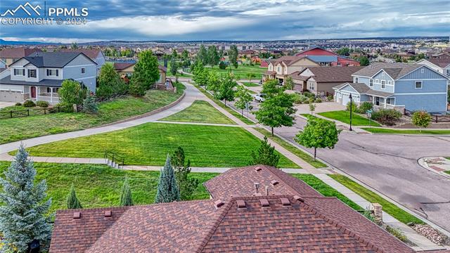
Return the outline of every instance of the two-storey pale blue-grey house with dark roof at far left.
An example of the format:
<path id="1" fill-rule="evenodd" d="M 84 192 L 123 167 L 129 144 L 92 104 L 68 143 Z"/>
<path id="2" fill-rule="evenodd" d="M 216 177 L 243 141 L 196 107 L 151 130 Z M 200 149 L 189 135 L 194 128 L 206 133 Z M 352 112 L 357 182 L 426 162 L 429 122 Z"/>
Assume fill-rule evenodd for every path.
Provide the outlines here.
<path id="1" fill-rule="evenodd" d="M 84 53 L 37 52 L 16 60 L 0 79 L 0 101 L 46 100 L 58 103 L 58 89 L 65 79 L 96 91 L 96 63 Z"/>

